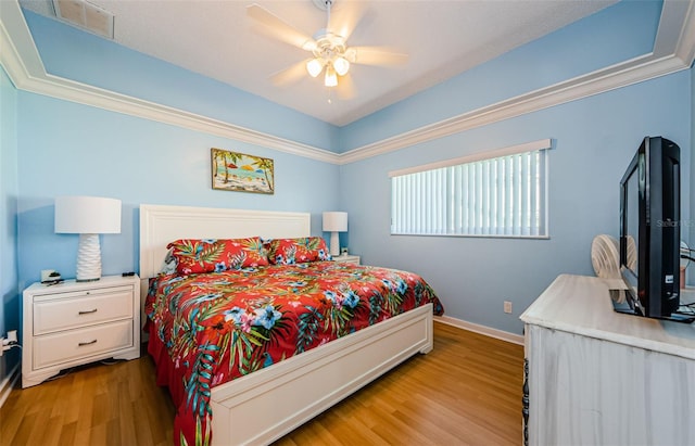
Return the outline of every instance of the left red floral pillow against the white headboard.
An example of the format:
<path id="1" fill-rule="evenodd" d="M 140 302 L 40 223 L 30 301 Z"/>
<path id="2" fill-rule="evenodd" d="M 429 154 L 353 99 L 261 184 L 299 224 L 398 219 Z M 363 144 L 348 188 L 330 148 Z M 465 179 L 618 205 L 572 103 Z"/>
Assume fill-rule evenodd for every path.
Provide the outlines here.
<path id="1" fill-rule="evenodd" d="M 169 243 L 179 275 L 224 271 L 268 265 L 258 237 L 248 239 L 180 239 Z"/>

